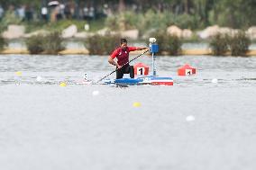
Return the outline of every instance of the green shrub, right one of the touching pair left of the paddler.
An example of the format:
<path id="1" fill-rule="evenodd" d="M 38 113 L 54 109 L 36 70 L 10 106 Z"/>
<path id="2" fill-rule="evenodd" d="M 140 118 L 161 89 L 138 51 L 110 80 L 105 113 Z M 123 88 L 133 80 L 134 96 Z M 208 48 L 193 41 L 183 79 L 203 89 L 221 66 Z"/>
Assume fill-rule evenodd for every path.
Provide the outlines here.
<path id="1" fill-rule="evenodd" d="M 65 49 L 60 33 L 54 31 L 46 35 L 43 39 L 42 48 L 47 54 L 58 54 L 59 51 Z"/>

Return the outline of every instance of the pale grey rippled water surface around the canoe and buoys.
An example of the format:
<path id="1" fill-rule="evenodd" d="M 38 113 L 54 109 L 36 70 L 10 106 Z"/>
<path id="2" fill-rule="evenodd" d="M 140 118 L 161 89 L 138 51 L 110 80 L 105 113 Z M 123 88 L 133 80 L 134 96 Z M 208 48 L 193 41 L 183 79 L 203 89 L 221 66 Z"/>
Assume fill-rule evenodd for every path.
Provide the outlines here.
<path id="1" fill-rule="evenodd" d="M 256 58 L 160 57 L 173 86 L 76 85 L 106 61 L 0 56 L 1 169 L 255 169 Z"/>

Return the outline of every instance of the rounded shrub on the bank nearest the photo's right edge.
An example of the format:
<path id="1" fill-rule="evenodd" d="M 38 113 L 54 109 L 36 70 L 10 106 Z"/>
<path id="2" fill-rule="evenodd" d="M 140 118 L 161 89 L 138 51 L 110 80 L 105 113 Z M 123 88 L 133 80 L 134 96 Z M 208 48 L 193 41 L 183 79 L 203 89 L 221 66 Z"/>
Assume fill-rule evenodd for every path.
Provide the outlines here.
<path id="1" fill-rule="evenodd" d="M 232 56 L 245 56 L 251 45 L 251 40 L 244 31 L 239 31 L 229 40 Z"/>

